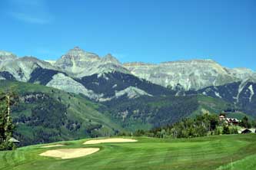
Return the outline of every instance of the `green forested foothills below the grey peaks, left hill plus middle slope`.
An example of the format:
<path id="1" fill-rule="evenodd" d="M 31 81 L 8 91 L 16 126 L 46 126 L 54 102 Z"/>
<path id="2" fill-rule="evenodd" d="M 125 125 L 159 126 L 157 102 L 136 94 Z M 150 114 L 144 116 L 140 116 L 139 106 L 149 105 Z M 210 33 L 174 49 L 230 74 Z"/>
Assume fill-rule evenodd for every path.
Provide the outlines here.
<path id="1" fill-rule="evenodd" d="M 147 90 L 151 90 L 151 83 L 148 85 Z M 221 99 L 201 94 L 175 96 L 171 91 L 165 96 L 129 98 L 124 95 L 94 103 L 81 94 L 33 83 L 0 80 L 2 90 L 9 87 L 19 96 L 19 102 L 12 106 L 12 119 L 14 136 L 21 145 L 149 130 L 171 125 L 185 117 L 219 114 L 234 108 L 233 104 Z"/>

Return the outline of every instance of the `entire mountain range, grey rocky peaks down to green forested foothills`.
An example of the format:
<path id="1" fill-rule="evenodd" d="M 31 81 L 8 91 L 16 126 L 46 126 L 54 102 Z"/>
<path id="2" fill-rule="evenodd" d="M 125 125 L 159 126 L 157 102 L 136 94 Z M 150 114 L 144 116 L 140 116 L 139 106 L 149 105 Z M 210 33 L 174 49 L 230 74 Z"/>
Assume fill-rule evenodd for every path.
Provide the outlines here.
<path id="1" fill-rule="evenodd" d="M 187 116 L 224 110 L 256 116 L 256 73 L 247 68 L 223 67 L 214 60 L 121 64 L 111 54 L 99 57 L 79 47 L 55 61 L 17 57 L 0 51 L 0 87 L 6 89 L 12 85 L 18 86 L 23 103 L 14 111 L 17 136 L 26 139 L 24 129 L 36 126 L 38 129 L 33 129 L 35 139 L 30 140 L 35 143 L 43 136 L 38 136 L 38 130 L 52 122 L 45 118 L 47 115 L 63 117 L 63 120 L 57 132 L 50 130 L 50 135 L 39 142 L 73 139 L 74 134 L 104 136 L 121 130 L 150 129 Z M 52 92 L 56 89 L 62 95 L 56 96 Z M 38 98 L 44 95 L 52 105 Z M 68 96 L 73 96 L 73 101 L 68 100 Z M 33 101 L 25 100 L 29 97 Z M 74 101 L 91 103 L 88 105 L 91 111 L 86 105 L 77 106 Z M 40 112 L 43 108 L 40 102 L 46 107 L 52 106 L 53 115 L 49 110 Z M 22 106 L 28 106 L 30 110 L 22 111 Z M 64 115 L 58 115 L 60 110 L 65 110 Z M 38 114 L 45 116 L 35 123 Z M 90 116 L 96 118 L 90 122 Z M 105 122 L 99 119 L 105 119 Z M 88 127 L 93 127 L 93 132 L 88 131 Z M 56 128 L 52 126 L 52 129 Z"/>

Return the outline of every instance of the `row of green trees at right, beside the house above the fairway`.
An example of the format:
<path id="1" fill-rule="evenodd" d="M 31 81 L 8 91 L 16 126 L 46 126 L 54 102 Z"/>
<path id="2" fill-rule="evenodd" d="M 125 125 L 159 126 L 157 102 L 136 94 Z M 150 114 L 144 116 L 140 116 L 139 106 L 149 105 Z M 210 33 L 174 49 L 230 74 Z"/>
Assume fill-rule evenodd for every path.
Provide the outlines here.
<path id="1" fill-rule="evenodd" d="M 254 123 L 249 122 L 248 117 L 244 116 L 244 118 L 241 119 L 239 126 L 251 128 L 255 125 Z M 139 129 L 132 135 L 176 139 L 220 134 L 238 134 L 238 128 L 237 126 L 230 126 L 227 123 L 220 121 L 218 115 L 204 114 L 195 116 L 195 118 L 185 118 L 177 123 L 158 127 L 149 131 Z"/>

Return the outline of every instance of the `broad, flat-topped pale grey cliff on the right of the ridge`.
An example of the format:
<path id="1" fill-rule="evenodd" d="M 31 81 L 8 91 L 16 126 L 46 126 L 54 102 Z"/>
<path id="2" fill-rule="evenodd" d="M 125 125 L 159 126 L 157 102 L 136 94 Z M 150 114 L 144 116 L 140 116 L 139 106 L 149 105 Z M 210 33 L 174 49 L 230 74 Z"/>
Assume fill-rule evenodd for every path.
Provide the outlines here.
<path id="1" fill-rule="evenodd" d="M 254 76 L 253 71 L 228 69 L 214 60 L 181 60 L 161 64 L 129 63 L 124 66 L 137 77 L 175 89 L 199 90 Z"/>

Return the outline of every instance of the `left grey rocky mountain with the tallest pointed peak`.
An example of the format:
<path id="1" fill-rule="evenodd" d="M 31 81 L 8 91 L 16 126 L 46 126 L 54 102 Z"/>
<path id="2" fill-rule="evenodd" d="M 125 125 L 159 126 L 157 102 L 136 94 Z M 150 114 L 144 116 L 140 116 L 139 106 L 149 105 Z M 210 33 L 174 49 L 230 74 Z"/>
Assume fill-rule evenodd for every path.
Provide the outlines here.
<path id="1" fill-rule="evenodd" d="M 107 101 L 121 96 L 151 96 L 137 88 L 138 84 L 141 84 L 140 87 L 147 90 L 148 86 L 152 86 L 151 83 L 132 76 L 111 54 L 98 57 L 97 54 L 75 47 L 56 62 L 38 60 L 35 57 L 16 57 L 8 52 L 1 53 L 1 61 L 1 80 L 39 83 L 71 93 L 81 93 L 96 101 Z M 122 76 L 116 76 L 118 73 Z M 105 88 L 109 86 L 111 88 Z M 157 91 L 164 88 L 155 87 Z"/>

